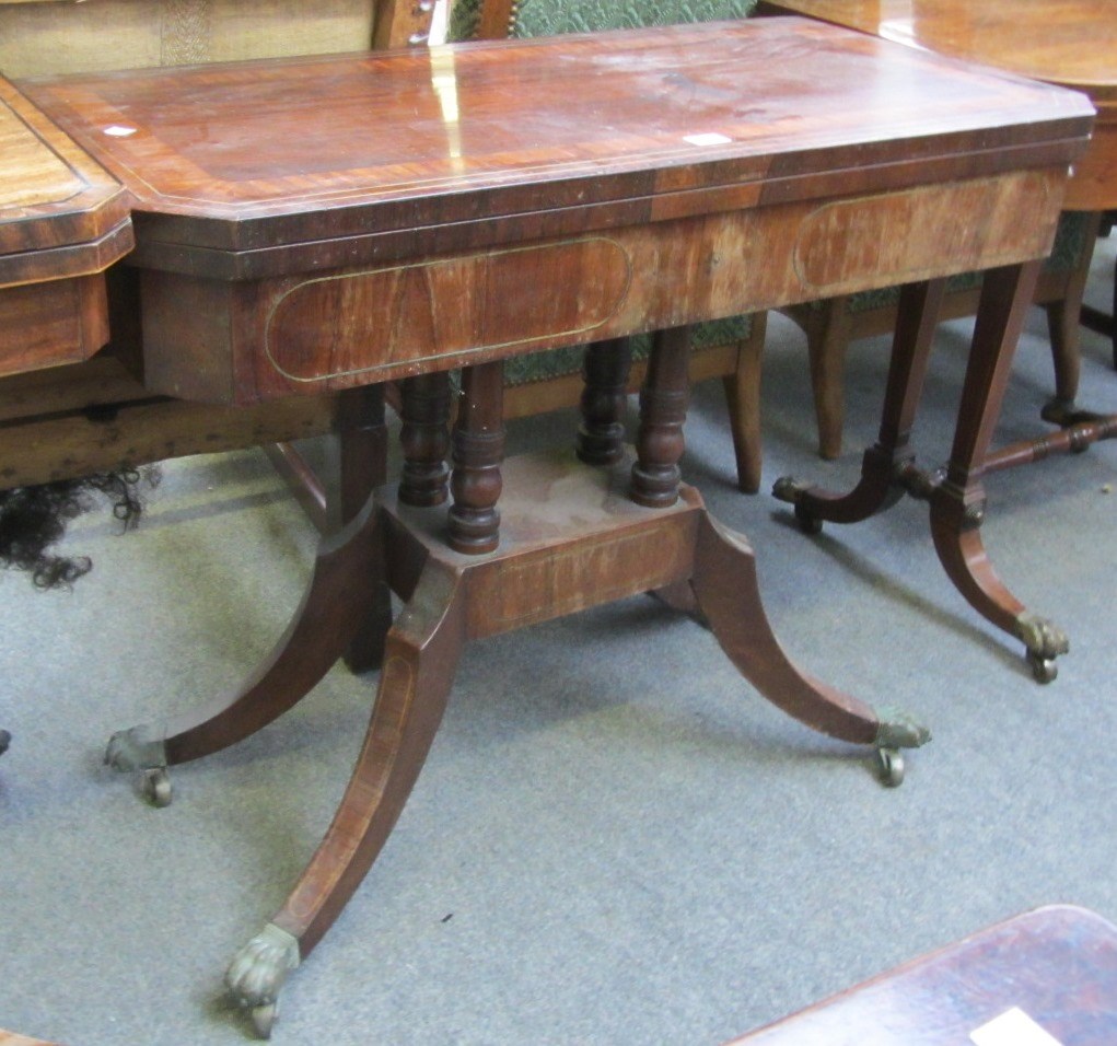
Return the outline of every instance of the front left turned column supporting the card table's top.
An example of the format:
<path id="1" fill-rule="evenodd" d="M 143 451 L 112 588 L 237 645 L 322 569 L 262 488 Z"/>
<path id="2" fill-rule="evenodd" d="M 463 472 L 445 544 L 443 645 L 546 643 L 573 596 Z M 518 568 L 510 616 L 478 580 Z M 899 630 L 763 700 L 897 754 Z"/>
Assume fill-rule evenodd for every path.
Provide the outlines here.
<path id="1" fill-rule="evenodd" d="M 449 543 L 456 552 L 491 552 L 500 540 L 500 463 L 504 460 L 504 364 L 461 372 L 461 405 L 454 427 Z"/>

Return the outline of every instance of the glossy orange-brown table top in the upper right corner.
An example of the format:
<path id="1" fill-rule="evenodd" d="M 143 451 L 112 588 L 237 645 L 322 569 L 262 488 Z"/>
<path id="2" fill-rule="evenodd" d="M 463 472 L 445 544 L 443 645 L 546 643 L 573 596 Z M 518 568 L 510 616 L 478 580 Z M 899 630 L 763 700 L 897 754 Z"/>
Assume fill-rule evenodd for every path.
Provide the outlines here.
<path id="1" fill-rule="evenodd" d="M 762 8 L 1086 92 L 1098 130 L 1068 203 L 1117 207 L 1117 4 L 1113 0 L 764 0 Z"/>

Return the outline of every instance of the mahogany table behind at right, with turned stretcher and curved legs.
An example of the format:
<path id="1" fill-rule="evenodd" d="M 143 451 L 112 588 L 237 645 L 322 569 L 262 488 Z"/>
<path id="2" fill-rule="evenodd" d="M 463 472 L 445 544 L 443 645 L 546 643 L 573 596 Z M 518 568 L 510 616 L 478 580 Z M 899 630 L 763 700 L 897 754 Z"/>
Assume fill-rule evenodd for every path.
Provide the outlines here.
<path id="1" fill-rule="evenodd" d="M 857 29 L 879 39 L 898 41 L 954 58 L 981 63 L 1050 84 L 1086 93 L 1097 110 L 1094 135 L 1076 162 L 1067 186 L 1063 208 L 1100 212 L 1117 207 L 1117 11 L 1113 0 L 761 0 L 762 13 L 804 15 L 827 23 Z M 1027 220 L 1027 216 L 1021 216 Z M 999 292 L 993 292 L 994 294 Z M 984 299 L 983 299 L 984 301 Z M 984 307 L 984 305 L 982 306 Z M 981 322 L 981 321 L 978 321 Z M 1013 348 L 1015 339 L 1013 341 Z M 909 348 L 903 348 L 909 346 Z M 915 470 L 907 446 L 918 388 L 908 384 L 906 403 L 894 402 L 877 445 L 868 451 L 862 478 L 846 497 L 784 477 L 775 485 L 776 497 L 791 502 L 805 530 L 817 532 L 823 521 L 853 523 L 894 504 L 907 489 L 930 500 L 932 531 L 948 576 L 980 614 L 1024 644 L 1035 678 L 1041 683 L 1057 675 L 1054 658 L 1067 653 L 1069 641 L 1057 625 L 1037 618 L 1000 581 L 982 549 L 977 529 L 984 517 L 985 497 L 981 477 L 1013 465 L 1040 460 L 1052 454 L 1081 450 L 1099 439 L 1117 436 L 1117 416 L 1079 410 L 1079 360 L 1077 345 L 1060 356 L 1056 398 L 1043 418 L 1060 426 L 1037 439 L 1022 440 L 990 450 L 993 428 L 1001 411 L 1004 387 L 1012 363 L 1011 349 L 995 367 L 973 370 L 966 378 L 960 408 L 958 438 L 952 453 L 970 457 L 966 473 L 952 465 L 946 485 L 970 485 L 966 515 L 957 519 L 953 494 L 944 494 L 937 477 Z M 927 341 L 920 348 L 897 341 L 894 369 L 903 369 L 910 381 L 922 381 Z M 897 360 L 911 352 L 915 359 Z M 958 545 L 956 530 L 968 532 Z"/>

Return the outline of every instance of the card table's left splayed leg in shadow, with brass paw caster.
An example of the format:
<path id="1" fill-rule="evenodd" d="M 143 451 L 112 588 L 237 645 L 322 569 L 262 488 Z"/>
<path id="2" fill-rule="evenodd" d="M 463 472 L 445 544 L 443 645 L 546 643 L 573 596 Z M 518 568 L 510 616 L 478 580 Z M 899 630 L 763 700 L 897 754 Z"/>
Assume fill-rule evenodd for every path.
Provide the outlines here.
<path id="1" fill-rule="evenodd" d="M 374 396 L 379 399 L 380 394 L 376 389 Z M 380 425 L 382 409 L 381 401 L 381 412 L 375 415 Z M 378 467 L 372 466 L 373 474 Z M 386 624 L 376 531 L 370 497 L 343 531 L 319 545 L 302 605 L 249 679 L 201 709 L 115 733 L 105 762 L 115 770 L 143 771 L 146 795 L 165 806 L 171 801 L 169 766 L 235 744 L 297 704 L 362 636 L 362 629 L 372 631 L 375 622 L 379 627 Z M 364 641 L 369 641 L 367 631 Z"/>

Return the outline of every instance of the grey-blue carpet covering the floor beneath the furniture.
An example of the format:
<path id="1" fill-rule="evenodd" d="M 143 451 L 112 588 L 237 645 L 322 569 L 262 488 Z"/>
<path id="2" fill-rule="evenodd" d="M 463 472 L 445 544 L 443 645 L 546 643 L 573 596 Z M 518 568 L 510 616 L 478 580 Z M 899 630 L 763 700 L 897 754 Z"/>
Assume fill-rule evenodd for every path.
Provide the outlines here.
<path id="1" fill-rule="evenodd" d="M 1090 296 L 1107 302 L 1114 240 Z M 926 719 L 896 790 L 757 697 L 646 599 L 471 646 L 381 859 L 283 996 L 280 1044 L 717 1044 L 1034 905 L 1117 919 L 1111 738 L 1117 445 L 991 478 L 1001 577 L 1071 635 L 1050 686 L 939 569 L 903 502 L 809 539 L 768 495 L 834 487 L 876 429 L 886 343 L 850 354 L 847 448 L 813 456 L 802 336 L 773 317 L 765 489 L 732 485 L 716 383 L 686 475 L 745 531 L 777 635 L 811 673 Z M 967 324 L 944 327 L 920 458 L 948 447 Z M 1083 332 L 1083 397 L 1117 409 Z M 1050 388 L 1031 316 L 1000 436 Z M 569 413 L 517 425 L 565 438 Z M 0 1027 L 70 1044 L 235 1044 L 221 974 L 281 903 L 344 787 L 375 676 L 335 668 L 145 806 L 101 766 L 121 726 L 232 686 L 296 606 L 315 534 L 256 451 L 178 462 L 135 533 L 74 526 L 70 593 L 0 577 Z"/>

